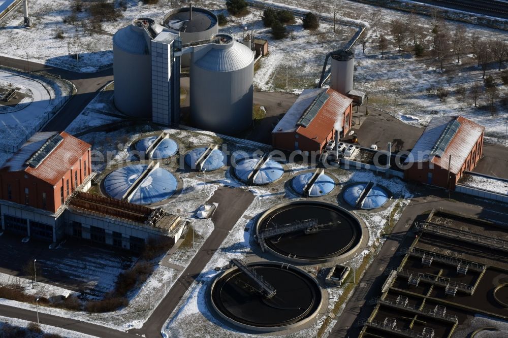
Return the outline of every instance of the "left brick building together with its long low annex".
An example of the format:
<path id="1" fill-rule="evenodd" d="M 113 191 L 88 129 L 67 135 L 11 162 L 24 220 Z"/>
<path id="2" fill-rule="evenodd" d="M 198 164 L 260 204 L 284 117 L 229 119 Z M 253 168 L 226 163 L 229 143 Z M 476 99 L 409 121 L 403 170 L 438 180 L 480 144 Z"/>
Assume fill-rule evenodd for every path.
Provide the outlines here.
<path id="1" fill-rule="evenodd" d="M 57 242 L 65 235 L 139 251 L 149 238 L 179 239 L 186 220 L 99 195 L 91 146 L 66 132 L 38 132 L 0 169 L 2 230 Z"/>

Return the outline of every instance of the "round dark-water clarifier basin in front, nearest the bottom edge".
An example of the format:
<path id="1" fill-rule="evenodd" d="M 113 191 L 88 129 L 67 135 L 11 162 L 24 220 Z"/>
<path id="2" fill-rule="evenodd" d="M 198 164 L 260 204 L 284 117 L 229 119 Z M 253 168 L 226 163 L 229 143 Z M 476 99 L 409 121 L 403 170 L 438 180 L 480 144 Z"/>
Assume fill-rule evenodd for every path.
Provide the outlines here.
<path id="1" fill-rule="evenodd" d="M 211 304 L 217 314 L 249 330 L 279 331 L 300 326 L 317 315 L 321 288 L 306 272 L 278 262 L 247 263 L 248 268 L 276 290 L 271 298 L 257 292 L 256 283 L 238 268 L 220 274 L 213 282 Z"/>

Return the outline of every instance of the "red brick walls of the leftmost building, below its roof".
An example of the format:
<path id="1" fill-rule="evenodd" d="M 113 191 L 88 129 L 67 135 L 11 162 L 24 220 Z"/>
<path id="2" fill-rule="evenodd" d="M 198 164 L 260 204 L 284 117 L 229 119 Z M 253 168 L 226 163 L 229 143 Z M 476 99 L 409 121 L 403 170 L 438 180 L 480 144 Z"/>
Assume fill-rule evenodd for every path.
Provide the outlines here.
<path id="1" fill-rule="evenodd" d="M 84 161 L 86 161 L 86 175 Z M 44 165 L 44 162 L 41 165 Z M 60 188 L 63 186 L 64 199 L 67 199 L 75 189 L 75 171 L 78 172 L 79 186 L 91 173 L 89 150 L 72 165 L 72 168 L 56 183 L 55 187 L 25 172 L 0 172 L 0 198 L 25 205 L 25 188 L 28 188 L 28 206 L 55 212 L 61 206 Z M 69 195 L 67 194 L 67 180 L 69 180 Z M 9 184 L 11 184 L 11 199 L 8 194 Z M 46 193 L 46 208 L 43 208 L 43 192 Z"/>

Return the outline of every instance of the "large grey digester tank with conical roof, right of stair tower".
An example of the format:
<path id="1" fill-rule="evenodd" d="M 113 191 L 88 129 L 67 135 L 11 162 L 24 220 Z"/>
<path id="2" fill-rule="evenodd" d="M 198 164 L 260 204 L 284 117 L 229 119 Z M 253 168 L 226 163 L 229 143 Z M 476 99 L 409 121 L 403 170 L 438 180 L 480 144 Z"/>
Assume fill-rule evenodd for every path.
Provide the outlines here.
<path id="1" fill-rule="evenodd" d="M 196 47 L 190 66 L 190 115 L 202 129 L 236 134 L 252 123 L 254 54 L 230 35 Z"/>

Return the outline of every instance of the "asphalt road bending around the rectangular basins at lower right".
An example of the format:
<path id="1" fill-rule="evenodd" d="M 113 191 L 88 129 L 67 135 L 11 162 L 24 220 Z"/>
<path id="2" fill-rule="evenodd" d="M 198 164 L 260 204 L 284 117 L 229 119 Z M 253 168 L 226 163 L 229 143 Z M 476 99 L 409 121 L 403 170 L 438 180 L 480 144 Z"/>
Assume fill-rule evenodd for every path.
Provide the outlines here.
<path id="1" fill-rule="evenodd" d="M 408 229 L 420 214 L 434 208 L 443 208 L 444 210 L 451 210 L 474 217 L 488 217 L 492 221 L 505 221 L 506 208 L 504 206 L 468 198 L 464 195 L 460 195 L 461 202 L 454 199 L 448 200 L 448 196 L 446 196 L 443 190 L 427 188 L 422 185 L 416 185 L 415 188 L 421 194 L 411 199 L 410 204 L 405 208 L 399 221 L 380 249 L 379 254 L 370 264 L 363 278 L 358 282 L 359 285 L 346 303 L 341 316 L 336 318 L 337 324 L 333 327 L 329 335 L 330 337 L 358 336 L 361 327 L 355 327 L 355 322 L 371 314 L 373 307 L 368 302 L 366 303 L 366 301 L 380 295 L 381 287 L 386 281 L 386 276 L 382 275 L 385 269 L 399 265 L 403 257 L 394 254 L 399 248 L 409 246 L 414 239 L 415 233 L 408 232 Z"/>

